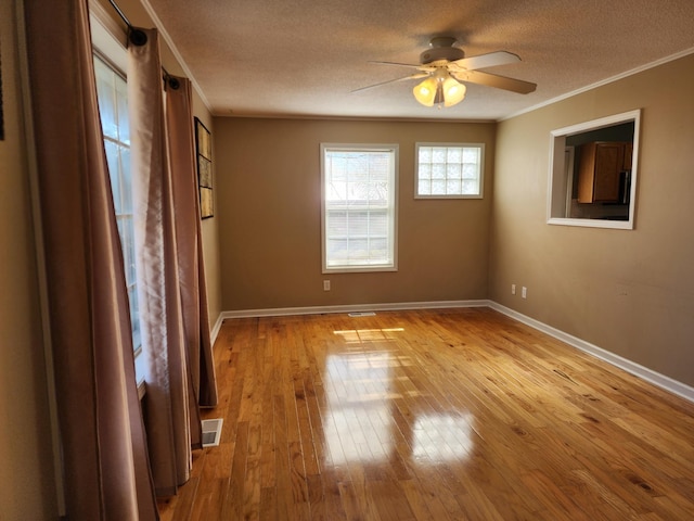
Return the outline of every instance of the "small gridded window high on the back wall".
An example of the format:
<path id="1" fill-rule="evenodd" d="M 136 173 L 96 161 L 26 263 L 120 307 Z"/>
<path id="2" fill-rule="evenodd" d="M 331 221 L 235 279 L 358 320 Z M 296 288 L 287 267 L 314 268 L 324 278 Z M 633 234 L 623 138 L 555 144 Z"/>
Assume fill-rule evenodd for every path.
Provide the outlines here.
<path id="1" fill-rule="evenodd" d="M 415 199 L 481 199 L 483 143 L 416 143 Z"/>

